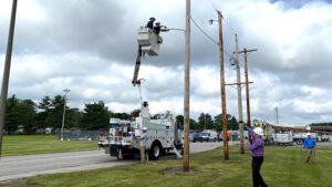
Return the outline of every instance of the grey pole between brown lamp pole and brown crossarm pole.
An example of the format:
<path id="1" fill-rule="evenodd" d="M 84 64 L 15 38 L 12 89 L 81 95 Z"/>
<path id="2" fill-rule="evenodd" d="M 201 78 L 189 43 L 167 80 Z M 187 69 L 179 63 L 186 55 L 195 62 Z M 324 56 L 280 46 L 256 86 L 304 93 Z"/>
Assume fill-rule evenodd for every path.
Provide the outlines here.
<path id="1" fill-rule="evenodd" d="M 238 110 L 239 110 L 239 127 L 240 127 L 240 153 L 245 154 L 243 145 L 243 118 L 242 118 L 242 95 L 241 95 L 241 76 L 240 76 L 240 64 L 239 64 L 239 49 L 238 49 L 238 35 L 236 35 L 236 67 L 237 67 L 237 89 L 238 89 Z"/>

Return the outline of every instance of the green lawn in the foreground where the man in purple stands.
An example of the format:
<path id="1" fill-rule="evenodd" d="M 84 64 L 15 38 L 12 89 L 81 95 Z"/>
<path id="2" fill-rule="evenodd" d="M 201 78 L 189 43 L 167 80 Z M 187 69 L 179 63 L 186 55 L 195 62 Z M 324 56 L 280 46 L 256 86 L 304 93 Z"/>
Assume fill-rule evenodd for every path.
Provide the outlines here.
<path id="1" fill-rule="evenodd" d="M 104 169 L 68 174 L 41 175 L 27 178 L 23 186 L 183 186 L 183 187 L 249 187 L 251 185 L 251 157 L 247 150 L 239 154 L 230 146 L 230 160 L 222 159 L 222 148 L 195 154 L 190 168 L 196 173 L 164 175 L 170 168 L 180 168 L 181 159 L 162 159 L 146 165 L 132 164 Z M 331 187 L 332 149 L 317 150 L 318 164 L 305 164 L 301 147 L 266 147 L 261 174 L 269 187 Z"/>

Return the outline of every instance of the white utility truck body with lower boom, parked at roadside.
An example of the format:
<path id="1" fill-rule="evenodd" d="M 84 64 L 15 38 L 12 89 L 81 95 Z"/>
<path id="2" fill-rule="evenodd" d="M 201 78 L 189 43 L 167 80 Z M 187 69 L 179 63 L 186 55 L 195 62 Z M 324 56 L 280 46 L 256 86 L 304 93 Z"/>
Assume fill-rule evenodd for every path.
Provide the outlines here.
<path id="1" fill-rule="evenodd" d="M 117 158 L 124 156 L 137 158 L 139 157 L 139 141 L 136 136 L 141 135 L 143 127 L 146 127 L 146 150 L 149 159 L 158 159 L 163 153 L 169 150 L 174 150 L 180 157 L 178 149 L 183 148 L 183 131 L 178 128 L 173 115 L 151 120 L 144 83 L 143 79 L 136 83 L 142 104 L 139 116 L 132 122 L 111 118 L 110 135 L 100 139 L 100 147 L 105 148 L 106 154 Z"/>

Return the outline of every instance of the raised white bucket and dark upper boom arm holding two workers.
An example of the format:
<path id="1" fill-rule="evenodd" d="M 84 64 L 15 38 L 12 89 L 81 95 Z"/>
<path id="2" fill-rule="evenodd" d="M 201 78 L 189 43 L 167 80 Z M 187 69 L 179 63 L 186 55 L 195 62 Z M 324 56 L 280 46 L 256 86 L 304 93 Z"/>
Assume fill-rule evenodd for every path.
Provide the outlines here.
<path id="1" fill-rule="evenodd" d="M 149 28 L 138 29 L 138 51 L 135 63 L 134 76 L 132 84 L 135 86 L 137 84 L 137 77 L 141 66 L 141 59 L 143 53 L 147 53 L 151 56 L 157 56 L 159 54 L 159 44 L 163 43 L 163 39 L 154 30 Z"/>

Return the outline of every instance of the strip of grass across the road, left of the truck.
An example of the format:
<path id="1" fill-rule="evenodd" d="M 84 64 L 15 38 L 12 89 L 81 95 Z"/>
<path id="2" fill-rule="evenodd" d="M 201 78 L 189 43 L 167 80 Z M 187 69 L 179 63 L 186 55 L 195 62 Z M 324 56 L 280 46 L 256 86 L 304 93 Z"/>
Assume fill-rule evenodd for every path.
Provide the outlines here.
<path id="1" fill-rule="evenodd" d="M 3 136 L 2 156 L 34 155 L 96 149 L 94 141 L 58 141 L 56 135 Z"/>

